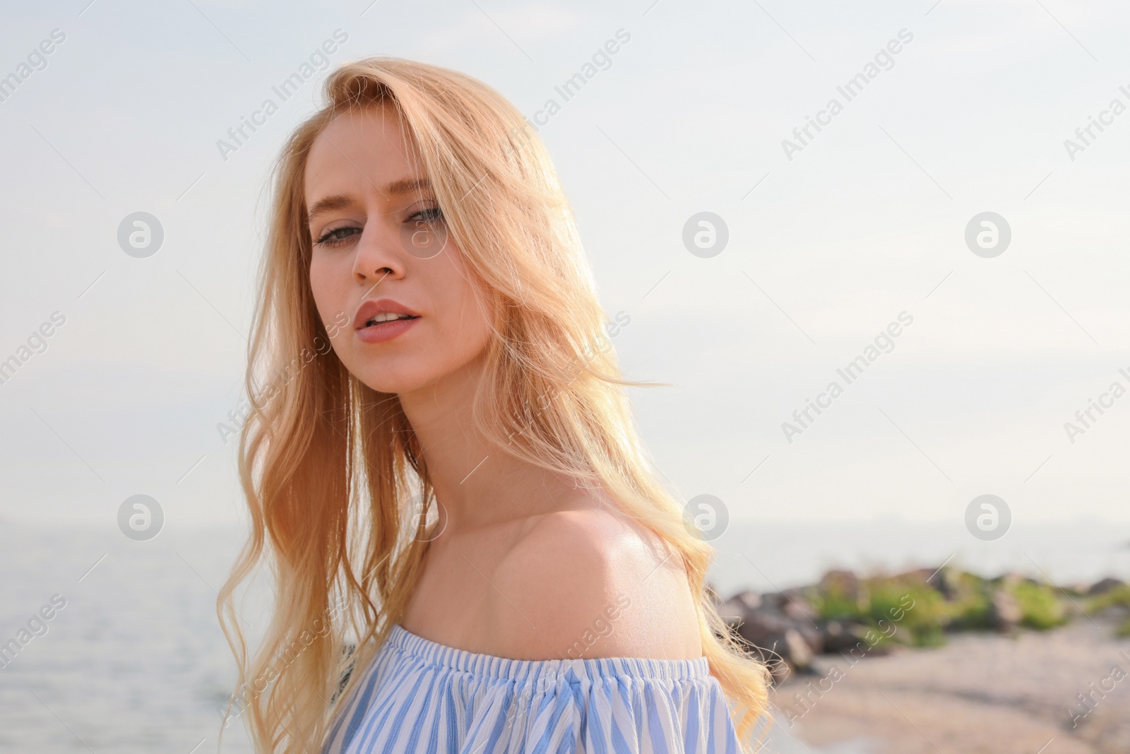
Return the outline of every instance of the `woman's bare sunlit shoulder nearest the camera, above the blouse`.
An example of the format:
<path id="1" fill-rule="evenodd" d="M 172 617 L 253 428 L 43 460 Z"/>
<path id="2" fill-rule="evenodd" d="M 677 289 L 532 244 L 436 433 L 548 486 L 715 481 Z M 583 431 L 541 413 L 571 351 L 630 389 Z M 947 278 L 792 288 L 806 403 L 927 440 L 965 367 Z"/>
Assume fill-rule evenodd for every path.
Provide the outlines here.
<path id="1" fill-rule="evenodd" d="M 496 653 L 519 659 L 702 655 L 679 553 L 602 506 L 532 518 L 494 573 Z"/>

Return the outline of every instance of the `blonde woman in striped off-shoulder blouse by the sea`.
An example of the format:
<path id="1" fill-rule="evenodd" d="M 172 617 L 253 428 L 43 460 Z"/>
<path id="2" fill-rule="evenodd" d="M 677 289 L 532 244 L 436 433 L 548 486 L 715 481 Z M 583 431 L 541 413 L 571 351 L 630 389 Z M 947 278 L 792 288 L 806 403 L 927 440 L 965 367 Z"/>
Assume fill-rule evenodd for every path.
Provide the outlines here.
<path id="1" fill-rule="evenodd" d="M 649 469 L 540 141 L 416 62 L 325 98 L 277 172 L 218 604 L 257 748 L 738 751 L 767 674 Z M 261 561 L 249 657 L 231 597 Z"/>

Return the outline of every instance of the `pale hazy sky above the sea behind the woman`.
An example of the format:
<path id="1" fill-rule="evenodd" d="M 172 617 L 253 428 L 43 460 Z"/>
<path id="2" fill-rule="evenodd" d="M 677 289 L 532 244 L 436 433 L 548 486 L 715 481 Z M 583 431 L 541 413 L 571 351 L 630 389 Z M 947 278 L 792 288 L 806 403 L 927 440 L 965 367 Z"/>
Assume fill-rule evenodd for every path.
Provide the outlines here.
<path id="1" fill-rule="evenodd" d="M 1130 521 L 1130 393 L 1113 389 L 1130 390 L 1124 5 L 79 0 L 5 16 L 0 77 L 26 76 L 0 84 L 0 361 L 35 353 L 0 383 L 0 518 L 106 522 L 146 494 L 169 523 L 241 519 L 217 425 L 241 400 L 273 159 L 332 66 L 397 55 L 538 119 L 601 302 L 629 319 L 623 370 L 670 385 L 632 398 L 684 500 L 746 522 L 953 522 L 993 494 L 1017 522 Z M 272 87 L 303 71 L 282 101 Z M 277 112 L 254 115 L 268 98 Z M 119 240 L 136 213 L 163 232 L 149 255 Z M 709 253 L 685 242 L 701 213 Z M 825 408 L 806 418 L 809 400 Z M 1084 425 L 1092 400 L 1106 407 Z"/>

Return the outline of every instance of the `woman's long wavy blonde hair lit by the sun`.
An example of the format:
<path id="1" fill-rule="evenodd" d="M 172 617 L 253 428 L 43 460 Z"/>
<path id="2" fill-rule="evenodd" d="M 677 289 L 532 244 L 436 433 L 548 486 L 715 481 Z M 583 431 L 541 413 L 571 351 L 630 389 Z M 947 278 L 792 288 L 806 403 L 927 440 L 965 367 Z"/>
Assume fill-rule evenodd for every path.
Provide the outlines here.
<path id="1" fill-rule="evenodd" d="M 479 426 L 505 452 L 607 491 L 681 556 L 703 652 L 745 743 L 767 714 L 768 674 L 719 617 L 705 587 L 714 551 L 650 468 L 623 389 L 643 383 L 620 378 L 607 343 L 593 347 L 607 317 L 541 141 L 497 92 L 434 66 L 347 63 L 324 97 L 275 172 L 245 380 L 252 411 L 238 450 L 251 532 L 217 600 L 257 751 L 321 748 L 359 669 L 399 622 L 431 536 L 434 495 L 400 401 L 363 384 L 328 347 L 307 280 L 306 155 L 333 118 L 374 105 L 401 119 L 493 305 Z M 414 493 L 420 510 L 411 510 Z M 261 562 L 273 573 L 276 608 L 249 655 L 232 598 Z"/>

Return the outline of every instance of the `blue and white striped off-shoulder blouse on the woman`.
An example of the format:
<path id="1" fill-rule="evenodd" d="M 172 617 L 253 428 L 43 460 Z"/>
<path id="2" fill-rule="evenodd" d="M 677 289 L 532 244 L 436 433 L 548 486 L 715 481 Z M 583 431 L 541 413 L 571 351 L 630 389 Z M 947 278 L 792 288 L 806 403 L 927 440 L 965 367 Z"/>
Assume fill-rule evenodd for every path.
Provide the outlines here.
<path id="1" fill-rule="evenodd" d="M 393 625 L 323 754 L 737 754 L 709 660 L 512 660 Z"/>

